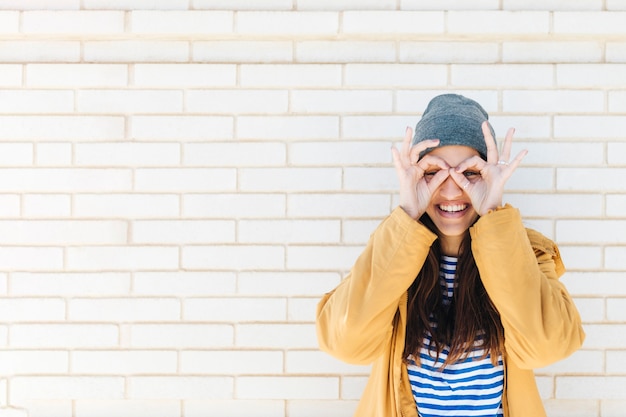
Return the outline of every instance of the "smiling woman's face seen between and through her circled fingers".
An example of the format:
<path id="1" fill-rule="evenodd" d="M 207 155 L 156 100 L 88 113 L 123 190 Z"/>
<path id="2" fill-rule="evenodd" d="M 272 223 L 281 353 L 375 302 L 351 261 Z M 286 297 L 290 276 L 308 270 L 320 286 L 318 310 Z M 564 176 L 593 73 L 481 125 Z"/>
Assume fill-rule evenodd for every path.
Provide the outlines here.
<path id="1" fill-rule="evenodd" d="M 435 148 L 429 154 L 443 159 L 450 167 L 455 168 L 467 158 L 478 155 L 478 152 L 467 146 L 455 145 Z M 426 181 L 440 168 L 433 167 L 432 169 L 432 171 L 426 171 Z M 473 182 L 480 178 L 480 173 L 467 170 L 465 177 Z M 478 218 L 469 196 L 454 182 L 452 177 L 448 177 L 435 190 L 426 213 L 439 229 L 439 238 L 443 246 L 456 247 L 457 251 L 465 232 Z"/>

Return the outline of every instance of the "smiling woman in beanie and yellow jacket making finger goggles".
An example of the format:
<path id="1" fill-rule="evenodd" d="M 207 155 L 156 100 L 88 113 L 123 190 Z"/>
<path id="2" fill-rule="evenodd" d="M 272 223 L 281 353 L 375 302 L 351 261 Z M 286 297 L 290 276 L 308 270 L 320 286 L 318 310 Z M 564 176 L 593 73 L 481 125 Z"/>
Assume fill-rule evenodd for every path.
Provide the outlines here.
<path id="1" fill-rule="evenodd" d="M 392 149 L 399 207 L 318 304 L 321 348 L 373 364 L 356 416 L 545 416 L 532 369 L 583 342 L 558 248 L 502 205 L 526 151 L 510 160 L 510 129 L 498 156 L 487 119 L 429 103 Z"/>

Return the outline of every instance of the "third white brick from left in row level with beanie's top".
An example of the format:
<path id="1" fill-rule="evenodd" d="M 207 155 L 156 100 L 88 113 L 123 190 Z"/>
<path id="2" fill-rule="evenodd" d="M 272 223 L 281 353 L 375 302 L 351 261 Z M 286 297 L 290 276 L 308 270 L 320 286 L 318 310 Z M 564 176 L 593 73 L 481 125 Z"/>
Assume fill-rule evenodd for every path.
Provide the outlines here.
<path id="1" fill-rule="evenodd" d="M 275 90 L 193 90 L 188 91 L 185 108 L 197 113 L 286 113 L 287 91 Z"/>

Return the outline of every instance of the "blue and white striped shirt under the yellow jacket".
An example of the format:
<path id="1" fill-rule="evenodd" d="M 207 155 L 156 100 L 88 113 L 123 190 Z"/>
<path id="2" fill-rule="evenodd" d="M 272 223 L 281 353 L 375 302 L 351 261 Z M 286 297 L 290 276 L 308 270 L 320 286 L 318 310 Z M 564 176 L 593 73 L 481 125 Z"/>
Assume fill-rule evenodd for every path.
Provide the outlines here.
<path id="1" fill-rule="evenodd" d="M 449 305 L 454 293 L 457 258 L 444 256 L 440 277 L 444 305 Z M 493 366 L 491 357 L 481 358 L 484 350 L 478 338 L 475 348 L 466 358 L 447 365 L 449 350 L 444 348 L 439 358 L 429 350 L 430 335 L 424 339 L 420 361 L 409 357 L 409 381 L 420 417 L 496 417 L 502 416 L 504 367 L 502 357 Z"/>

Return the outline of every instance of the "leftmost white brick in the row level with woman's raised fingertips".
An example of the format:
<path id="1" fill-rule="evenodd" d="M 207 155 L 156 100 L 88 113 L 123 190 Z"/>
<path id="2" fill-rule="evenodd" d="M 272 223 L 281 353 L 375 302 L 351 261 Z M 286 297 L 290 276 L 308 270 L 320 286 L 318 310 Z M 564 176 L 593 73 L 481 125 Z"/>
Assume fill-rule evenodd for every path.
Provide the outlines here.
<path id="1" fill-rule="evenodd" d="M 117 116 L 1 116 L 3 140 L 107 140 L 124 137 L 124 119 Z"/>

